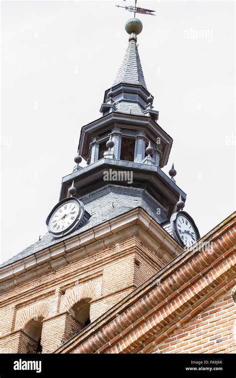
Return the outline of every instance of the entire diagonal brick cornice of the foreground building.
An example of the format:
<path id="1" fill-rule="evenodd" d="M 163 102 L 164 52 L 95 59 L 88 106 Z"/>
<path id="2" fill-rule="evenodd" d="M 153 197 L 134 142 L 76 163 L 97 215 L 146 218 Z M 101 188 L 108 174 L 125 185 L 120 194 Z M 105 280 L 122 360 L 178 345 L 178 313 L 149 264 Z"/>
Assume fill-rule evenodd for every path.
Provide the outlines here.
<path id="1" fill-rule="evenodd" d="M 170 321 L 190 321 L 234 284 L 235 225 L 236 213 L 200 240 L 213 247 L 184 251 L 55 353 L 128 353 L 160 330 L 167 337 Z"/>

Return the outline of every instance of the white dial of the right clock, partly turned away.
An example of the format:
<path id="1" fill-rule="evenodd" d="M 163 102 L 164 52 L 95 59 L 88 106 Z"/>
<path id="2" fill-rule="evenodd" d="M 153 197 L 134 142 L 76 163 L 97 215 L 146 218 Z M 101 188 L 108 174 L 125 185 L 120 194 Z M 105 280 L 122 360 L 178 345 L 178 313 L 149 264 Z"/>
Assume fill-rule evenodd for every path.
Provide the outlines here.
<path id="1" fill-rule="evenodd" d="M 197 234 L 190 220 L 184 216 L 179 215 L 176 219 L 176 229 L 180 239 L 186 247 L 190 247 L 197 241 Z"/>

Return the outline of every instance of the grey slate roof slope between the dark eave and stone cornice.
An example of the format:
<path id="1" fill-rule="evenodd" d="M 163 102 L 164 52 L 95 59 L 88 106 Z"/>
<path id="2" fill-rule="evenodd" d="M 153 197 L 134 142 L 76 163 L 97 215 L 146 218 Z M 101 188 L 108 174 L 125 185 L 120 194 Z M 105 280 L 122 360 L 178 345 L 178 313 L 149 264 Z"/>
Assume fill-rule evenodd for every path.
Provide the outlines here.
<path id="1" fill-rule="evenodd" d="M 143 189 L 108 185 L 85 195 L 80 198 L 80 200 L 83 201 L 85 209 L 91 217 L 82 227 L 80 227 L 79 230 L 65 236 L 64 238 L 60 238 L 60 240 L 69 239 L 71 236 L 81 234 L 82 232 L 111 220 L 118 215 L 124 214 L 135 207 L 142 207 L 158 223 L 167 219 L 165 209 Z M 156 214 L 157 207 L 162 208 L 160 215 Z M 47 233 L 41 238 L 41 240 L 35 242 L 17 255 L 8 259 L 6 262 L 2 263 L 0 268 L 13 264 L 16 261 L 56 243 L 58 243 L 58 240 L 53 239 L 51 235 Z"/>

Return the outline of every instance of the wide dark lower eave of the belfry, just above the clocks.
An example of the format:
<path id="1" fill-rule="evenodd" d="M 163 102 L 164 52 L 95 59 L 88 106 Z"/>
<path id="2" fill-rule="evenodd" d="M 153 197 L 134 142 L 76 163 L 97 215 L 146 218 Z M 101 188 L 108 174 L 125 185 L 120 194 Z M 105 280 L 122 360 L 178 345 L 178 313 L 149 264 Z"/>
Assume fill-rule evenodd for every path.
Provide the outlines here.
<path id="1" fill-rule="evenodd" d="M 186 193 L 158 166 L 105 158 L 63 177 L 59 200 L 67 196 L 73 181 L 79 197 L 107 185 L 109 182 L 104 181 L 104 172 L 110 169 L 131 171 L 133 175 L 131 186 L 146 189 L 162 206 L 167 208 L 168 216 L 173 213 L 180 194 L 183 200 L 186 200 Z M 120 185 L 120 182 L 111 181 L 111 184 Z M 124 182 L 122 185 L 130 186 Z"/>

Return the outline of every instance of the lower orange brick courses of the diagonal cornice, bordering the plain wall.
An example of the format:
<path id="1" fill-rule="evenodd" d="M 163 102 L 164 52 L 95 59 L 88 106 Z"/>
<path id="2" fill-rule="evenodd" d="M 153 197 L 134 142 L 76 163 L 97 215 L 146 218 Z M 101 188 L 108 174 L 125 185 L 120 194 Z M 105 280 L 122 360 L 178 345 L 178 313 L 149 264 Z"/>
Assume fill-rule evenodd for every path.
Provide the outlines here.
<path id="1" fill-rule="evenodd" d="M 232 280 L 234 276 L 223 275 L 221 279 L 225 279 L 226 277 Z M 153 307 L 151 311 L 146 312 L 142 319 L 139 318 L 137 322 L 132 323 L 132 329 L 129 329 L 127 333 L 122 332 L 120 334 L 119 340 L 118 338 L 114 338 L 114 340 L 110 341 L 109 345 L 106 344 L 97 353 L 117 353 L 118 345 L 119 353 L 130 351 L 133 353 L 134 350 L 135 353 L 138 353 L 144 346 L 156 338 L 156 334 L 158 337 L 155 341 L 163 341 L 178 328 L 195 318 L 205 307 L 212 304 L 215 298 L 220 296 L 222 292 L 229 290 L 234 284 L 232 281 L 228 285 L 225 282 L 220 282 L 218 279 L 214 280 L 201 292 L 197 291 L 197 286 L 195 285 L 195 287 L 192 286 L 193 289 L 189 291 L 185 290 L 182 296 L 177 293 L 176 297 L 172 300 L 167 300 L 167 303 L 164 301 L 159 306 Z M 217 285 L 217 290 L 215 285 Z M 211 295 L 208 294 L 209 289 L 211 289 Z M 188 292 L 188 296 L 186 292 Z M 154 292 L 152 292 L 152 295 L 154 296 Z M 198 299 L 200 295 L 201 297 Z M 157 297 L 152 299 L 155 298 L 157 299 Z M 140 306 L 140 304 L 139 306 L 137 305 L 136 311 L 140 310 Z M 149 339 L 144 343 L 146 335 L 149 336 Z"/>

